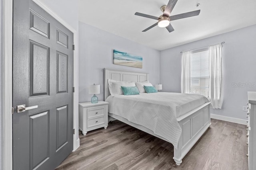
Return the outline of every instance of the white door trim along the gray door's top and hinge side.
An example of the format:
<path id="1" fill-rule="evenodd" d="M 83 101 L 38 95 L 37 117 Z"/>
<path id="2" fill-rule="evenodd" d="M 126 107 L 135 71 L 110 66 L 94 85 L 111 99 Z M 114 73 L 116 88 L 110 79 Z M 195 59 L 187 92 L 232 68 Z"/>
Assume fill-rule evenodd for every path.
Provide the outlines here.
<path id="1" fill-rule="evenodd" d="M 80 139 L 79 139 L 79 129 L 78 129 L 78 38 L 77 38 L 77 32 L 76 29 L 71 27 L 66 21 L 64 21 L 62 18 L 60 18 L 55 12 L 53 12 L 48 6 L 46 6 L 44 3 L 42 3 L 40 0 L 33 0 L 38 6 L 43 8 L 46 12 L 48 12 L 53 18 L 55 18 L 57 21 L 62 23 L 66 28 L 68 28 L 74 36 L 74 87 L 75 92 L 73 96 L 73 128 L 75 129 L 75 134 L 73 137 L 73 151 L 78 149 L 80 146 Z"/>

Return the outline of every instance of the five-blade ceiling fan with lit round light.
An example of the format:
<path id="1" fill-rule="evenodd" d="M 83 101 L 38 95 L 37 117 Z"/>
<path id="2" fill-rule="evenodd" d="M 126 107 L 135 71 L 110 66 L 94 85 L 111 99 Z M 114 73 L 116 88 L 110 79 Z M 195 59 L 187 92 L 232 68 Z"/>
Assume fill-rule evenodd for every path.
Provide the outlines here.
<path id="1" fill-rule="evenodd" d="M 196 11 L 192 11 L 192 12 L 186 12 L 183 14 L 178 14 L 178 15 L 174 15 L 174 16 L 170 16 L 176 2 L 178 0 L 169 0 L 167 5 L 163 5 L 161 6 L 161 11 L 164 13 L 159 17 L 155 17 L 155 16 L 150 16 L 147 14 L 142 14 L 139 12 L 136 12 L 135 15 L 136 16 L 142 16 L 142 17 L 146 17 L 146 18 L 151 18 L 154 20 L 158 20 L 157 23 L 151 25 L 150 27 L 144 29 L 142 32 L 148 31 L 149 29 L 153 28 L 154 26 L 158 25 L 159 27 L 166 27 L 166 29 L 170 32 L 174 31 L 170 21 L 173 20 L 179 20 L 182 18 L 188 18 L 188 17 L 192 17 L 192 16 L 198 16 L 200 13 L 200 10 L 196 10 Z"/>

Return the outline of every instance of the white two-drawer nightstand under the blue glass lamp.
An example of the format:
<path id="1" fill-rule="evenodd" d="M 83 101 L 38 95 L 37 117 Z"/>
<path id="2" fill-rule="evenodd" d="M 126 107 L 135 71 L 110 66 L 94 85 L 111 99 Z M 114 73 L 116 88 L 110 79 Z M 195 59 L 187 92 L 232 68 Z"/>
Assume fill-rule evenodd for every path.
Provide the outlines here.
<path id="1" fill-rule="evenodd" d="M 79 129 L 83 135 L 101 127 L 108 127 L 108 102 L 79 103 Z"/>

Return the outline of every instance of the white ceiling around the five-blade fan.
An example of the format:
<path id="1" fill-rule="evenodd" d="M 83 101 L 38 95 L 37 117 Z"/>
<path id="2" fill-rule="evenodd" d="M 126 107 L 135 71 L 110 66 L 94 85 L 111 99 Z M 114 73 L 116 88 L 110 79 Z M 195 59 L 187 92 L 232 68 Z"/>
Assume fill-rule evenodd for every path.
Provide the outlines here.
<path id="1" fill-rule="evenodd" d="M 142 32 L 157 20 L 168 0 L 79 0 L 79 21 L 157 50 L 256 24 L 256 0 L 178 0 L 171 15 L 201 10 L 199 16 L 171 21 L 174 31 L 158 26 Z M 199 7 L 196 4 L 200 3 Z M 223 40 L 225 41 L 225 40 Z"/>

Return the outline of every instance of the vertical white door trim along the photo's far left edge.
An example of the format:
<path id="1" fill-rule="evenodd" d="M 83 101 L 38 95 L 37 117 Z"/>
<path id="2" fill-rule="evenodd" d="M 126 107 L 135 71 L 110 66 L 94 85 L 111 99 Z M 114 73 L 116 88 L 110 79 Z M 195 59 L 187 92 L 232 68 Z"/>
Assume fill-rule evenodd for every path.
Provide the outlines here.
<path id="1" fill-rule="evenodd" d="M 12 170 L 12 0 L 3 0 L 3 23 L 3 163 L 0 168 Z"/>

